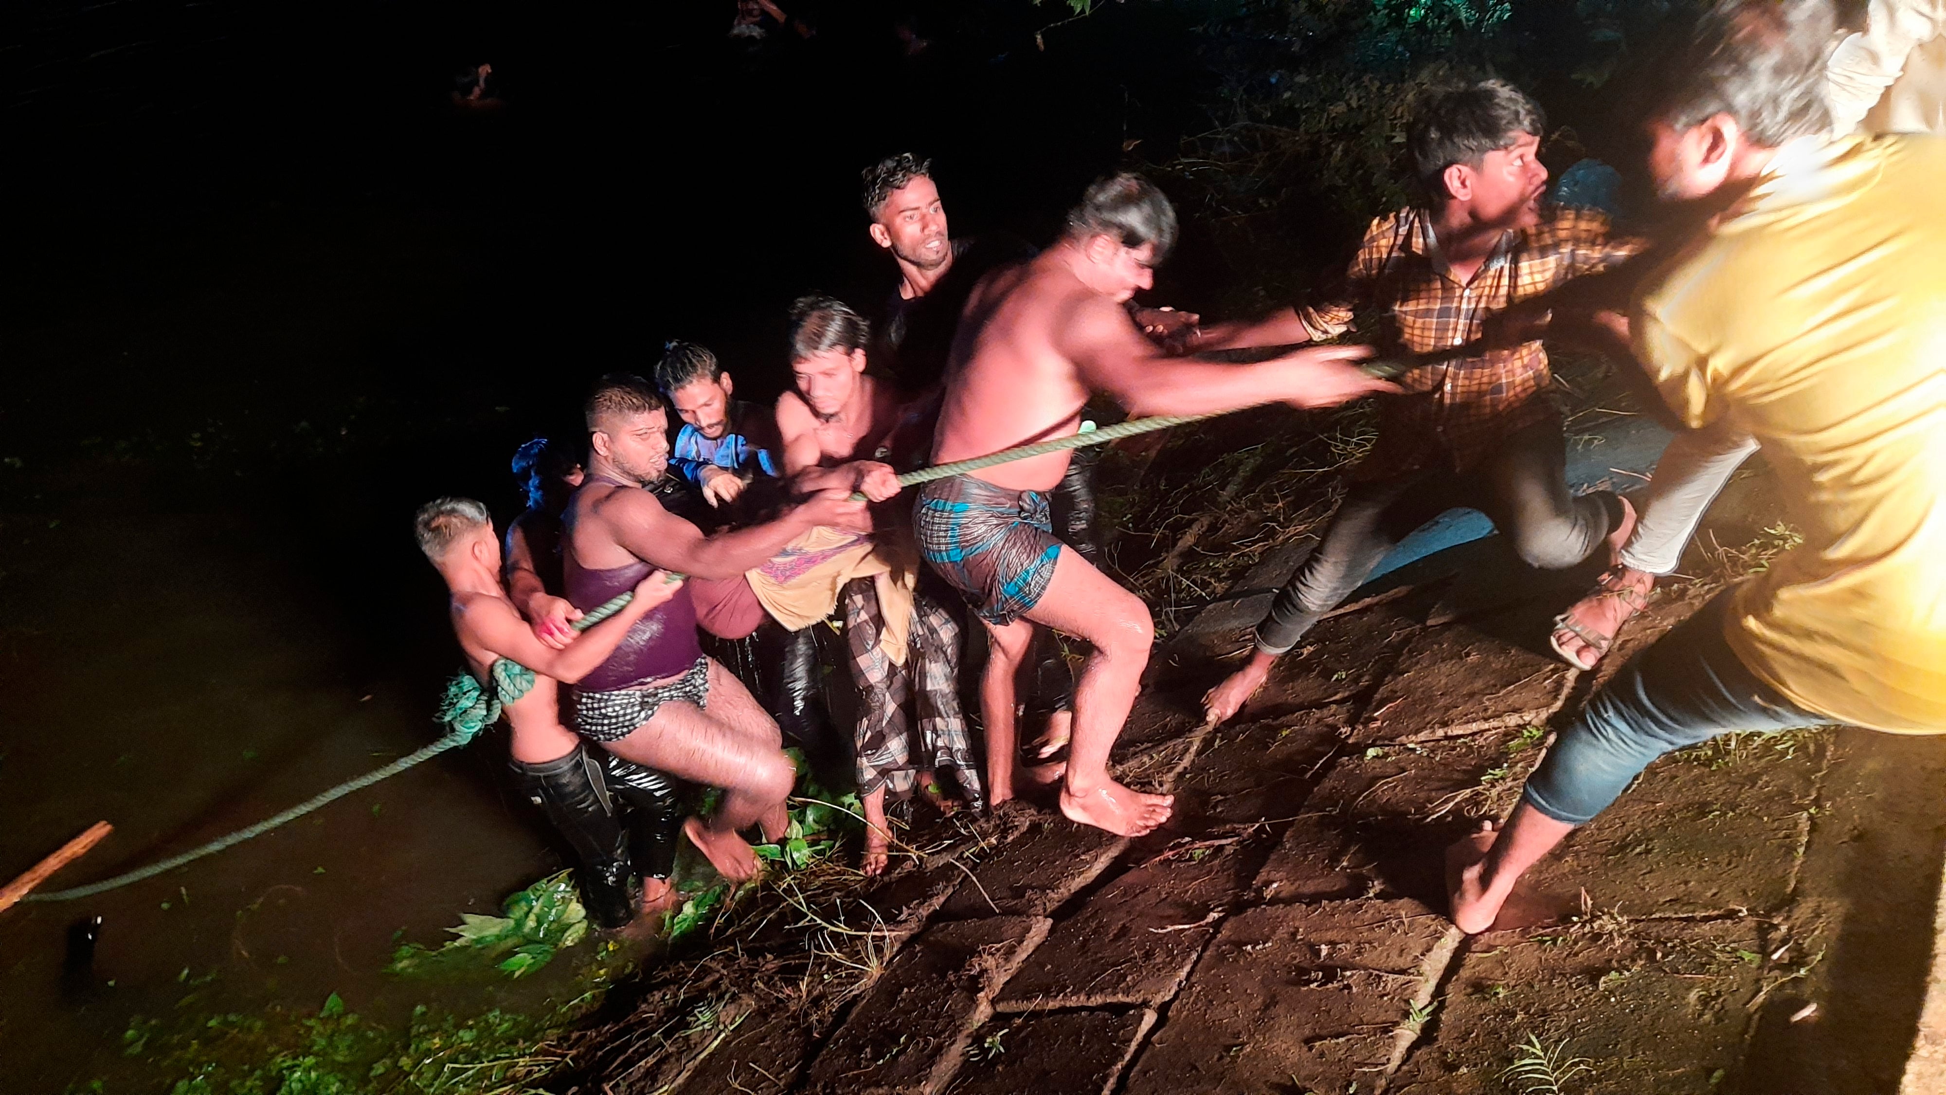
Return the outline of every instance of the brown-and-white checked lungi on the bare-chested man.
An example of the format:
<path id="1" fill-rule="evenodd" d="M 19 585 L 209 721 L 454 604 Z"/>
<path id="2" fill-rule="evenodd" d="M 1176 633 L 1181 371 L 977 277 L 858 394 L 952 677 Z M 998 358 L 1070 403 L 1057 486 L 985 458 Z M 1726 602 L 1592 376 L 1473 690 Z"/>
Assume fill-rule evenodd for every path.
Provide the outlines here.
<path id="1" fill-rule="evenodd" d="M 944 606 L 917 594 L 905 664 L 880 643 L 885 616 L 872 579 L 845 585 L 845 645 L 858 684 L 858 795 L 880 787 L 891 799 L 913 793 L 919 772 L 952 775 L 959 797 L 975 811 L 985 799 L 965 713 L 954 688 L 959 668 L 959 625 Z M 917 686 L 917 688 L 915 688 Z M 915 719 L 907 719 L 907 703 Z M 919 733 L 913 733 L 917 725 Z"/>

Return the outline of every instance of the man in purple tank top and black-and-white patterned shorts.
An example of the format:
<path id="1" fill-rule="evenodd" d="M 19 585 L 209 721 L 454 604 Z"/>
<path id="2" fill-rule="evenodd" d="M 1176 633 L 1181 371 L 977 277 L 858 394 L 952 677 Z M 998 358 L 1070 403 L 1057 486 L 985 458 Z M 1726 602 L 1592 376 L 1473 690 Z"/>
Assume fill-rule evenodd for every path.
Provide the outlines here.
<path id="1" fill-rule="evenodd" d="M 588 612 L 632 588 L 652 569 L 695 579 L 738 579 L 819 524 L 856 526 L 864 503 L 823 491 L 775 522 L 704 538 L 648 491 L 669 464 L 669 417 L 638 376 L 607 376 L 588 397 L 594 454 L 566 512 L 566 594 Z M 722 787 L 708 822 L 691 818 L 689 840 L 732 881 L 757 873 L 738 836 L 761 824 L 784 834 L 784 799 L 796 777 L 776 723 L 749 690 L 697 645 L 687 586 L 631 627 L 623 645 L 572 694 L 574 729 L 627 760 Z"/>

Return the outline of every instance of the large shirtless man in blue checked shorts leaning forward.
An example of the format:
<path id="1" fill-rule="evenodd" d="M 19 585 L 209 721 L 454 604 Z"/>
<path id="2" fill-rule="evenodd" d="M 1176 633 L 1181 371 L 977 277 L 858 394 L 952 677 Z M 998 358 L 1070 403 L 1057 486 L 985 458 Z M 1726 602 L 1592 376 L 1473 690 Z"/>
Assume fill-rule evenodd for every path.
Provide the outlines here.
<path id="1" fill-rule="evenodd" d="M 954 341 L 932 462 L 987 456 L 1066 436 L 1088 396 L 1131 415 L 1199 415 L 1265 401 L 1329 407 L 1391 384 L 1351 364 L 1366 347 L 1308 347 L 1259 364 L 1168 359 L 1123 304 L 1154 284 L 1175 242 L 1175 210 L 1148 181 L 1115 175 L 1088 187 L 1066 234 L 1031 263 L 991 275 L 973 292 Z M 1086 639 L 1094 653 L 1074 696 L 1074 736 L 1061 811 L 1084 824 L 1140 836 L 1170 816 L 1170 795 L 1109 779 L 1107 756 L 1135 705 L 1154 643 L 1148 606 L 1049 532 L 1043 491 L 1068 454 L 1000 464 L 928 483 L 919 493 L 919 544 L 948 583 L 979 602 L 992 639 L 981 682 L 987 791 L 1014 797 L 1014 672 L 1033 625 Z"/>

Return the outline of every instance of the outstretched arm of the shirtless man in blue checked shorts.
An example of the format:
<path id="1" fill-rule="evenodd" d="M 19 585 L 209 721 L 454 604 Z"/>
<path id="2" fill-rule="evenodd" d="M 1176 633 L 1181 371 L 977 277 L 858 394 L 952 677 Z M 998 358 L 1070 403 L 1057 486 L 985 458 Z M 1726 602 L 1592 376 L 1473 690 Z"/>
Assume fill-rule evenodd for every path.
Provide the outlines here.
<path id="1" fill-rule="evenodd" d="M 1080 302 L 1055 345 L 1090 388 L 1107 392 L 1131 415 L 1210 415 L 1273 401 L 1331 407 L 1397 392 L 1352 364 L 1370 357 L 1370 347 L 1306 347 L 1259 364 L 1164 357 L 1121 308 L 1101 298 Z"/>

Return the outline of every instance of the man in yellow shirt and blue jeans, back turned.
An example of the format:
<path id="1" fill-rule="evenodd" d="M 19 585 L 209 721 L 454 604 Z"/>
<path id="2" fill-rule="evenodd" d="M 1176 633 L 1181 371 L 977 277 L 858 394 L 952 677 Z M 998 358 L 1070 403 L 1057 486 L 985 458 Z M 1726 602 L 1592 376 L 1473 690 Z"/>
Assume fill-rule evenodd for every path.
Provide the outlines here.
<path id="1" fill-rule="evenodd" d="M 1946 140 L 1831 140 L 1829 0 L 1718 0 L 1652 111 L 1664 197 L 1722 212 L 1648 283 L 1637 357 L 1755 436 L 1804 544 L 1639 655 L 1522 803 L 1448 855 L 1454 924 L 1654 758 L 1730 731 L 1946 731 Z"/>

